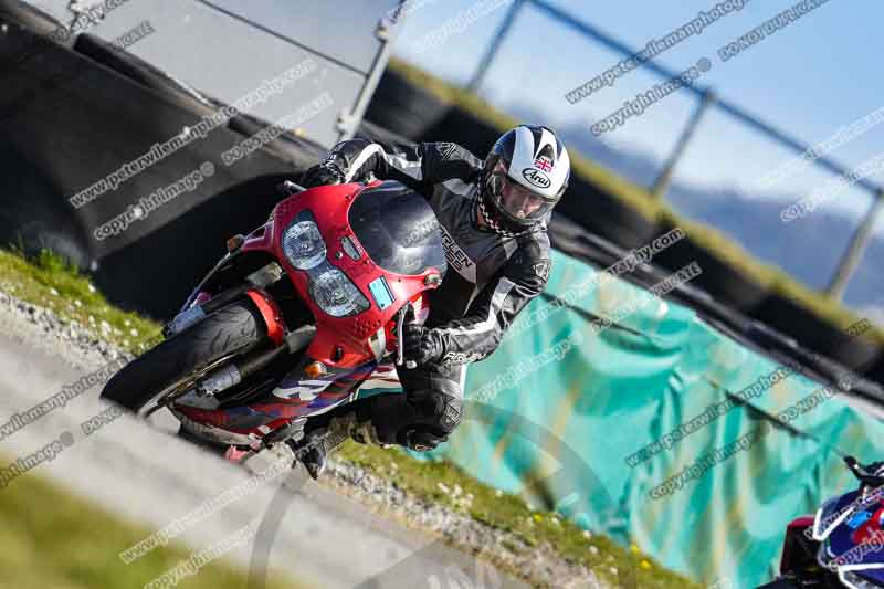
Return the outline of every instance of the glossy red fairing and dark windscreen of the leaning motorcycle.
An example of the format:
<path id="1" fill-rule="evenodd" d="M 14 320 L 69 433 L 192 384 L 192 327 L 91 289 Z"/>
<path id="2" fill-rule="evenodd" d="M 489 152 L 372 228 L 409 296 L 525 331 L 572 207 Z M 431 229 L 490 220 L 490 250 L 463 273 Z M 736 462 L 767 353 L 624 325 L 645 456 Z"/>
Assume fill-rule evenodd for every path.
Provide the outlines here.
<path id="1" fill-rule="evenodd" d="M 314 243 L 318 230 L 325 252 L 298 269 L 286 255 L 283 235 L 305 222 L 315 225 L 309 229 Z M 295 228 L 293 234 L 301 235 L 301 231 Z M 257 437 L 355 397 L 359 383 L 394 350 L 397 313 L 411 303 L 425 318 L 428 307 L 422 304 L 422 293 L 428 286 L 435 287 L 448 269 L 435 214 L 423 197 L 399 182 L 317 187 L 290 197 L 274 208 L 264 225 L 244 238 L 231 257 L 250 253 L 273 257 L 283 267 L 315 319 L 316 335 L 270 399 L 232 409 L 187 404 L 177 404 L 176 409 L 209 427 Z M 313 253 L 307 251 L 308 256 Z M 355 309 L 358 313 L 348 316 L 324 311 L 311 292 L 316 283 L 311 271 L 318 267 L 311 264 L 317 262 L 323 269 L 345 274 L 370 302 L 368 307 L 359 306 Z M 275 343 L 281 340 L 287 327 L 278 307 L 269 301 L 255 301 L 265 298 L 265 293 L 250 293 L 250 297 L 265 303 L 259 308 L 267 333 L 275 336 Z M 282 337 L 281 328 L 285 332 Z M 319 378 L 315 370 L 306 370 L 315 362 L 320 362 L 326 372 Z"/>

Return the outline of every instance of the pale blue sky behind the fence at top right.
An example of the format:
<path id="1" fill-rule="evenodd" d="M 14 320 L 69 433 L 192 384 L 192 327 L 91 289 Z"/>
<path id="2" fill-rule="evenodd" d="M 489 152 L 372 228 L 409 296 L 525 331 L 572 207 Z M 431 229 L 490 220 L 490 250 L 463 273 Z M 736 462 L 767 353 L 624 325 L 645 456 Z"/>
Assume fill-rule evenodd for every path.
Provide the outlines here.
<path id="1" fill-rule="evenodd" d="M 665 36 L 709 10 L 715 0 L 651 2 L 620 0 L 547 0 L 573 17 L 591 23 L 619 41 L 643 49 L 651 39 Z M 801 141 L 813 145 L 833 136 L 884 106 L 884 76 L 880 66 L 881 25 L 884 2 L 880 0 L 829 0 L 804 17 L 739 55 L 723 62 L 717 50 L 760 25 L 789 1 L 750 0 L 735 12 L 708 25 L 659 57 L 656 63 L 681 72 L 707 57 L 708 72 L 697 81 L 724 99 L 739 105 Z M 440 75 L 465 84 L 485 46 L 508 10 L 507 0 L 417 0 L 407 12 L 393 44 L 393 54 Z M 474 7 L 477 20 L 463 18 L 454 34 L 425 49 L 427 35 L 446 19 Z M 480 10 L 481 9 L 481 10 Z M 622 57 L 596 41 L 550 19 L 526 2 L 492 63 L 480 94 L 502 107 L 526 104 L 539 109 L 546 123 L 578 122 L 587 133 L 661 78 L 648 70 L 634 70 L 576 105 L 565 94 L 600 74 Z M 640 117 L 627 119 L 601 139 L 612 146 L 645 152 L 657 160 L 670 154 L 696 98 L 686 90 L 665 97 Z M 830 157 L 854 168 L 884 151 L 884 124 L 832 151 Z M 676 168 L 680 181 L 698 187 L 735 187 L 753 198 L 770 198 L 758 179 L 797 154 L 745 127 L 719 109 L 709 109 Z M 809 169 L 783 180 L 778 196 L 806 196 L 834 177 Z M 884 170 L 872 178 L 884 185 Z M 867 192 L 853 188 L 825 207 L 851 215 L 864 212 Z M 884 221 L 877 223 L 884 230 Z"/>

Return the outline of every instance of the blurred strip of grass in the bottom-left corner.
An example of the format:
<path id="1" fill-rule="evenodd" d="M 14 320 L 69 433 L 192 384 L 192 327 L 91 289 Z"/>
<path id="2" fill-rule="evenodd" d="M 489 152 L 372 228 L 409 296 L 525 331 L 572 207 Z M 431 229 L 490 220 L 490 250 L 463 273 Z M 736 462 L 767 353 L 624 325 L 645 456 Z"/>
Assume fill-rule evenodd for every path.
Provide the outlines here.
<path id="1" fill-rule="evenodd" d="M 126 565 L 119 559 L 119 551 L 149 536 L 150 530 L 117 519 L 31 474 L 0 491 L 0 523 L 3 571 L 0 588 L 3 589 L 141 588 L 199 553 L 170 543 Z M 267 589 L 304 587 L 274 577 Z M 241 570 L 214 560 L 181 579 L 176 587 L 242 589 L 245 586 Z"/>

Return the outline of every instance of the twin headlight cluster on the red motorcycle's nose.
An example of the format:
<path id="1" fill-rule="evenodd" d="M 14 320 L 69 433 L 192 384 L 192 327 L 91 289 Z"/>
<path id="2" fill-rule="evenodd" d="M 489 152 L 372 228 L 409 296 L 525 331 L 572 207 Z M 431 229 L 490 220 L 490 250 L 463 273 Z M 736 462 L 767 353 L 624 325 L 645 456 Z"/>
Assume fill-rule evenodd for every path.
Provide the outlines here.
<path id="1" fill-rule="evenodd" d="M 371 306 L 350 278 L 328 262 L 325 240 L 309 211 L 301 211 L 285 228 L 282 245 L 288 263 L 307 273 L 311 297 L 320 309 L 333 317 L 349 317 Z"/>

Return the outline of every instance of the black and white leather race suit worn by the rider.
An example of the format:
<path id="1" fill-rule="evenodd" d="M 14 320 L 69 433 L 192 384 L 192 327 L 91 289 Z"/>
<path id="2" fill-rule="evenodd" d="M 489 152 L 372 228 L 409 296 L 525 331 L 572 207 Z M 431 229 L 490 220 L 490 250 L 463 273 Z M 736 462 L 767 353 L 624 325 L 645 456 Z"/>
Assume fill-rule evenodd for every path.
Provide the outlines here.
<path id="1" fill-rule="evenodd" d="M 332 149 L 324 161 L 329 164 L 345 175 L 345 182 L 402 182 L 427 198 L 442 229 L 449 270 L 430 293 L 424 323 L 440 335 L 441 359 L 414 369 L 397 367 L 404 396 L 379 395 L 340 408 L 355 409 L 359 421 L 370 419 L 382 443 L 434 448 L 460 423 L 466 365 L 497 348 L 515 316 L 546 284 L 546 222 L 514 236 L 480 228 L 482 160 L 452 143 L 352 139 Z"/>

